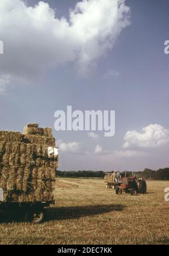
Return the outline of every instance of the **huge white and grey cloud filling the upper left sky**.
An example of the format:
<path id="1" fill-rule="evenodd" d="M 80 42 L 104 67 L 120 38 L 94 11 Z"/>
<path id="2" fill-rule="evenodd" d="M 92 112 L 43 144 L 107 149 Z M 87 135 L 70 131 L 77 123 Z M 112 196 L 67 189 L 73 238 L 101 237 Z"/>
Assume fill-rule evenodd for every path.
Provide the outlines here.
<path id="1" fill-rule="evenodd" d="M 83 0 L 68 19 L 57 18 L 43 1 L 28 7 L 25 1 L 1 0 L 0 75 L 30 81 L 68 62 L 86 72 L 113 47 L 129 17 L 125 0 Z"/>

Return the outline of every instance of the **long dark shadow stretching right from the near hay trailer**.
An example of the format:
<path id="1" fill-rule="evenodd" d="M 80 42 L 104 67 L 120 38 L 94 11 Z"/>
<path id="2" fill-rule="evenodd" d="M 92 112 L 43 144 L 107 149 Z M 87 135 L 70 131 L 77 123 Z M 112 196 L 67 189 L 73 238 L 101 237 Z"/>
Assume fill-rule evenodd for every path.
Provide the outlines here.
<path id="1" fill-rule="evenodd" d="M 79 219 L 85 216 L 106 214 L 113 211 L 122 211 L 125 206 L 115 205 L 96 205 L 96 206 L 77 206 L 77 207 L 60 207 L 46 210 L 46 221 L 50 220 L 68 220 Z"/>

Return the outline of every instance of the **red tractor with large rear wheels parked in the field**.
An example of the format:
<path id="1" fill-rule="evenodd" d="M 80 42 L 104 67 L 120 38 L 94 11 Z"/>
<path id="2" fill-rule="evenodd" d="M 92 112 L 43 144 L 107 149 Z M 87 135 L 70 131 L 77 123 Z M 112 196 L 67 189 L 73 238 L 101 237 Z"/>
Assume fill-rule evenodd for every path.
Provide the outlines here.
<path id="1" fill-rule="evenodd" d="M 146 182 L 145 180 L 139 178 L 138 180 L 135 177 L 124 177 L 122 178 L 121 186 L 118 186 L 115 189 L 115 193 L 120 195 L 123 193 L 130 193 L 131 195 L 136 194 L 146 194 Z"/>

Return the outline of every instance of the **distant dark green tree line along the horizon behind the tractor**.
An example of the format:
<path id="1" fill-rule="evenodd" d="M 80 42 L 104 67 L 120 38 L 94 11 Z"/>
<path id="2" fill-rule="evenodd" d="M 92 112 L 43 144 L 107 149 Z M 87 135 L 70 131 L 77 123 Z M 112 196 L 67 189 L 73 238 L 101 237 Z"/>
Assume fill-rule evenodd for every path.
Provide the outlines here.
<path id="1" fill-rule="evenodd" d="M 127 171 L 127 176 L 130 177 L 132 172 Z M 152 180 L 169 180 L 169 168 L 151 170 L 144 169 L 143 172 L 135 172 L 136 176 L 139 178 L 152 179 Z M 121 173 L 123 177 L 124 172 Z M 65 177 L 65 178 L 104 178 L 105 172 L 102 170 L 92 171 L 92 170 L 79 170 L 75 171 L 56 171 L 56 177 Z"/>

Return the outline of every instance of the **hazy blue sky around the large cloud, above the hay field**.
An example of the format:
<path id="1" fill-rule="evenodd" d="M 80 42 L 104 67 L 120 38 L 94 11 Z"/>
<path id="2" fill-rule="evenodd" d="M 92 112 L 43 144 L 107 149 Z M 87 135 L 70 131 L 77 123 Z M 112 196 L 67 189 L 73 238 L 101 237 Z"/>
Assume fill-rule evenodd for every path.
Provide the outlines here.
<path id="1" fill-rule="evenodd" d="M 15 1 L 19 6 L 21 1 Z M 116 0 L 109 1 L 113 3 Z M 10 0 L 7 2 L 8 5 L 11 4 Z M 57 18 L 64 16 L 69 19 L 69 8 L 74 9 L 78 1 L 45 2 L 51 8 L 56 8 Z M 37 3 L 38 1 L 27 0 L 28 6 Z M 22 26 L 15 23 L 16 31 L 11 32 L 10 22 L 12 24 L 15 16 L 8 15 L 6 25 L 0 18 L 0 40 L 4 41 L 5 49 L 8 50 L 3 56 L 0 55 L 0 85 L 2 86 L 1 77 L 10 77 L 6 78 L 3 91 L 0 90 L 1 130 L 22 131 L 23 126 L 29 122 L 38 122 L 42 127 L 50 126 L 54 129 L 55 111 L 65 110 L 67 105 L 72 105 L 74 110 L 100 109 L 116 112 L 116 132 L 113 138 L 105 138 L 102 132 L 96 132 L 99 138 L 94 139 L 86 131 L 54 131 L 60 146 L 59 168 L 62 170 L 143 170 L 169 165 L 169 56 L 164 54 L 164 41 L 169 40 L 169 2 L 127 0 L 126 5 L 130 7 L 131 24 L 125 25 L 119 35 L 115 36 L 112 49 L 106 49 L 101 56 L 97 53 L 95 68 L 88 69 L 83 75 L 77 75 L 79 67 L 76 60 L 56 65 L 55 58 L 51 56 L 53 66 L 49 65 L 50 59 L 44 67 L 43 63 L 42 66 L 39 63 L 37 65 L 33 56 L 36 56 L 38 49 L 33 41 L 42 40 L 39 52 L 46 50 L 45 47 L 54 47 L 55 52 L 55 42 L 47 45 L 45 37 L 39 39 L 33 25 L 26 26 L 26 20 Z M 16 11 L 21 12 L 22 9 L 18 8 Z M 1 10 L 0 5 L 0 13 L 4 15 L 2 21 L 6 18 L 5 12 L 6 9 Z M 118 26 L 117 23 L 116 27 Z M 28 37 L 23 36 L 21 29 L 24 29 L 25 35 L 28 31 Z M 46 34 L 48 36 L 48 31 Z M 18 48 L 17 40 L 20 45 Z M 31 51 L 28 45 L 32 46 Z M 66 58 L 69 55 L 69 45 L 58 47 L 58 59 Z M 11 58 L 14 52 L 17 54 L 15 58 Z M 41 60 L 39 56 L 38 58 Z M 23 66 L 26 68 L 23 69 Z M 143 131 L 144 127 L 148 129 Z M 130 134 L 124 140 L 127 131 Z M 128 142 L 127 148 L 123 147 L 125 142 Z M 73 145 L 77 146 L 77 150 L 72 150 Z M 97 146 L 101 148 L 99 153 L 95 153 Z"/>

